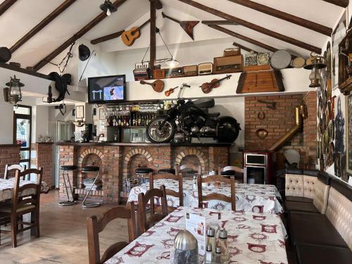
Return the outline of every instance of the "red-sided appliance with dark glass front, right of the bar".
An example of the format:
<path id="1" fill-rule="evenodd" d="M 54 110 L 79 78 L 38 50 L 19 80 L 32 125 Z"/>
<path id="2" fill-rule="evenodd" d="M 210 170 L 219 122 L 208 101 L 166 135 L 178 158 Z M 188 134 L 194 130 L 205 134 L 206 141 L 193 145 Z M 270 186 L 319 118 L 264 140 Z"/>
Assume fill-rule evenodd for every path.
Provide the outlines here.
<path id="1" fill-rule="evenodd" d="M 275 152 L 244 151 L 244 183 L 275 184 Z"/>

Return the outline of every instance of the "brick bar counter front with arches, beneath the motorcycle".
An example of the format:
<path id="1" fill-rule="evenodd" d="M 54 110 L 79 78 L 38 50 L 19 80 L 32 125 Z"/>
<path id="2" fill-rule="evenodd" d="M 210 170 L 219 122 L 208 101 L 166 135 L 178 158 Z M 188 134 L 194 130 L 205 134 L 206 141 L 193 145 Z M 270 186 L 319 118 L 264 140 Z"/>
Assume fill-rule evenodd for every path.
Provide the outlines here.
<path id="1" fill-rule="evenodd" d="M 82 173 L 82 168 L 95 165 L 100 168 L 102 188 L 92 191 L 93 198 L 106 203 L 119 203 L 127 199 L 125 179 L 134 177 L 136 168 L 147 167 L 158 172 L 160 169 L 175 168 L 176 165 L 191 163 L 201 166 L 201 173 L 229 164 L 231 144 L 173 144 L 173 143 L 113 143 L 113 142 L 56 142 L 58 165 L 77 165 L 70 172 L 73 194 L 82 198 L 87 191 L 82 181 L 95 177 L 96 173 Z M 60 172 L 60 196 L 65 198 L 63 178 Z"/>

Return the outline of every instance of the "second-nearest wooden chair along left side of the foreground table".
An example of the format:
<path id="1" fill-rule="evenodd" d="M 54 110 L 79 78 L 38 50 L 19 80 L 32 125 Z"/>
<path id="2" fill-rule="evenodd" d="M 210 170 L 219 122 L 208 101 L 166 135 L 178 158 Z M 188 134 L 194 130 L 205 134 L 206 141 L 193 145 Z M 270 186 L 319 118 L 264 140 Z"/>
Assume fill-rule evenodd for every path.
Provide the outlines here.
<path id="1" fill-rule="evenodd" d="M 161 200 L 161 213 L 156 213 L 154 208 L 154 197 Z M 151 215 L 146 219 L 146 205 L 149 202 Z M 166 202 L 165 186 L 161 185 L 160 189 L 149 189 L 146 194 L 138 194 L 138 224 L 141 233 L 146 232 L 156 222 L 168 215 L 168 203 Z"/>

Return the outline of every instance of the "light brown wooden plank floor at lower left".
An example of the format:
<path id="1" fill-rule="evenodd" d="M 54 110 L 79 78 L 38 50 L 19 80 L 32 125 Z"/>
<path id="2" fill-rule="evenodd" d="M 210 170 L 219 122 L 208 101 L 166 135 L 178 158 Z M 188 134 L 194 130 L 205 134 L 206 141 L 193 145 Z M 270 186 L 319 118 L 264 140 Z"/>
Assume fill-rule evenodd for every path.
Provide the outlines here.
<path id="1" fill-rule="evenodd" d="M 88 263 L 87 226 L 89 215 L 101 214 L 112 206 L 82 208 L 57 205 L 57 191 L 42 195 L 41 237 L 30 237 L 30 230 L 18 234 L 18 247 L 11 247 L 11 235 L 1 234 L 1 264 Z M 127 221 L 114 220 L 101 232 L 101 252 L 115 241 L 127 240 Z"/>

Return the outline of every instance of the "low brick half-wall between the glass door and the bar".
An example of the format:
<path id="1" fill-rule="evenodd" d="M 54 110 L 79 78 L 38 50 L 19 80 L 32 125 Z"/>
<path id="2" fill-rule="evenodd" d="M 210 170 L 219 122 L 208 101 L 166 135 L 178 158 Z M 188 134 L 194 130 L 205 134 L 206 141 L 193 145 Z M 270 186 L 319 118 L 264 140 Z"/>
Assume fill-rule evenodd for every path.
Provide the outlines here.
<path id="1" fill-rule="evenodd" d="M 37 158 L 35 158 L 36 168 L 43 168 L 43 182 L 49 187 L 54 186 L 53 182 L 53 143 L 36 143 L 35 150 Z"/>

